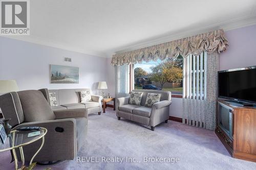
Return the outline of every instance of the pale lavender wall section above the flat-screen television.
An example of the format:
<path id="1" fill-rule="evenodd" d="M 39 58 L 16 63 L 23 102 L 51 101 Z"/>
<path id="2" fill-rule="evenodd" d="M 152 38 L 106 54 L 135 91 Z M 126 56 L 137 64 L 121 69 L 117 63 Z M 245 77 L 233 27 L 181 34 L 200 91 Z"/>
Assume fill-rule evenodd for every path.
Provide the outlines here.
<path id="1" fill-rule="evenodd" d="M 256 65 L 256 25 L 226 31 L 229 48 L 220 55 L 220 70 Z"/>

